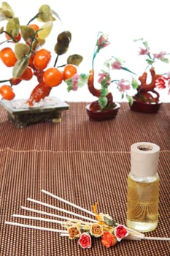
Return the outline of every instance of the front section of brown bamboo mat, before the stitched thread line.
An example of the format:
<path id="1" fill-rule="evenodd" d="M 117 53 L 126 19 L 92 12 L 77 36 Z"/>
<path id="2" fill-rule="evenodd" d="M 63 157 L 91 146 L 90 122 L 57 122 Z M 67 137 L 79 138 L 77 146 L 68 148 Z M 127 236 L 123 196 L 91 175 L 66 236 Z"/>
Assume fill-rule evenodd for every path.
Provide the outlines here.
<path id="1" fill-rule="evenodd" d="M 31 214 L 20 206 L 36 208 L 58 214 L 45 206 L 28 202 L 27 197 L 42 200 L 53 206 L 65 207 L 54 198 L 45 195 L 46 189 L 55 195 L 92 210 L 93 203 L 99 202 L 98 210 L 109 213 L 117 222 L 125 224 L 126 180 L 129 153 L 119 152 L 52 152 L 13 151 L 6 149 L 1 154 L 1 256 L 40 255 L 169 255 L 168 241 L 122 241 L 106 249 L 100 239 L 93 241 L 91 249 L 81 249 L 77 241 L 61 238 L 58 233 L 31 230 L 26 227 L 4 225 L 4 221 L 16 221 L 12 214 Z M 77 161 L 78 159 L 78 161 Z M 158 228 L 148 236 L 169 236 L 169 170 L 168 151 L 161 153 L 159 173 L 161 180 Z M 20 220 L 29 225 L 53 227 L 48 222 Z M 149 253 L 149 254 L 148 254 Z"/>

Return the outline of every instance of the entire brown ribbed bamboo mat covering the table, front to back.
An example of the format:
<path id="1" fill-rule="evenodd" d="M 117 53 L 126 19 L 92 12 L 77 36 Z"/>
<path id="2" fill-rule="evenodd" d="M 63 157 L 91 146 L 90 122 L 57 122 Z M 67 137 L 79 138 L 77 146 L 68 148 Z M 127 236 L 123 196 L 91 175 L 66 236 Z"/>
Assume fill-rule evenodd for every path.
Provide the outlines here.
<path id="1" fill-rule="evenodd" d="M 0 255 L 169 256 L 168 241 L 121 241 L 107 249 L 96 239 L 91 249 L 81 249 L 77 241 L 58 233 L 4 225 L 5 221 L 17 220 L 12 214 L 28 214 L 20 206 L 56 214 L 53 209 L 28 202 L 27 197 L 66 207 L 41 189 L 90 211 L 98 201 L 98 211 L 125 225 L 129 149 L 132 143 L 145 140 L 161 146 L 159 222 L 157 229 L 147 236 L 170 237 L 169 115 L 170 104 L 162 105 L 157 114 L 147 115 L 134 113 L 123 103 L 115 120 L 98 123 L 88 120 L 85 103 L 72 102 L 70 110 L 63 113 L 61 124 L 48 122 L 16 129 L 1 108 Z M 72 206 L 66 208 L 73 211 Z M 51 222 L 18 222 L 58 228 Z"/>

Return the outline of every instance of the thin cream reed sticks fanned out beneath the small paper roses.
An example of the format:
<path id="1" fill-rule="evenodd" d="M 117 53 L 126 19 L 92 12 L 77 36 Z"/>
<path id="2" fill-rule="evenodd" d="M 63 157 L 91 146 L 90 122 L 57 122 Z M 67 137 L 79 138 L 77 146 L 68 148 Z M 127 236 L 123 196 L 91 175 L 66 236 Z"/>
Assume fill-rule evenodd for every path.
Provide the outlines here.
<path id="1" fill-rule="evenodd" d="M 54 229 L 54 228 L 48 228 L 48 227 L 41 227 L 41 226 L 35 226 L 35 225 L 26 225 L 23 223 L 19 223 L 19 222 L 8 222 L 6 221 L 5 224 L 7 225 L 14 225 L 14 226 L 18 226 L 18 227 L 28 227 L 28 228 L 32 228 L 32 229 L 37 229 L 37 230 L 46 230 L 46 231 L 51 231 L 51 232 L 55 232 L 55 233 L 60 233 L 61 236 L 69 236 L 68 233 L 68 227 L 72 226 L 74 224 L 76 224 L 77 222 L 79 222 L 79 225 L 81 228 L 90 225 L 92 223 L 98 223 L 98 220 L 96 219 L 96 214 L 93 211 L 88 211 L 85 208 L 82 208 L 81 206 L 77 206 L 74 203 L 69 202 L 68 200 L 65 200 L 61 197 L 58 197 L 57 195 L 53 195 L 50 192 L 47 192 L 45 189 L 41 190 L 43 193 L 45 193 L 46 195 L 49 195 L 50 197 L 55 198 L 56 200 L 59 200 L 63 203 L 65 203 L 66 205 L 72 206 L 74 208 L 77 208 L 78 210 L 85 212 L 86 215 L 88 214 L 90 217 L 84 216 L 82 214 L 77 214 L 75 212 L 72 211 L 68 211 L 65 208 L 58 208 L 57 206 L 53 206 L 50 205 L 48 203 L 44 203 L 41 202 L 39 200 L 34 200 L 31 198 L 27 198 L 28 201 L 32 202 L 32 203 L 36 203 L 40 206 L 45 206 L 47 208 L 52 208 L 56 211 L 60 211 L 63 214 L 69 214 L 72 217 L 66 217 L 64 215 L 57 215 L 57 214 L 52 214 L 46 211 L 39 211 L 36 210 L 34 208 L 28 208 L 25 206 L 21 206 L 21 208 L 23 210 L 29 211 L 29 212 L 33 212 L 36 214 L 43 214 L 45 216 L 48 217 L 53 217 L 53 219 L 48 219 L 48 218 L 42 218 L 42 217 L 34 217 L 34 216 L 27 216 L 27 215 L 20 215 L 20 214 L 13 214 L 12 217 L 17 217 L 17 218 L 22 218 L 22 219 L 31 219 L 31 220 L 37 220 L 40 222 L 52 222 L 52 223 L 56 223 L 61 225 L 61 227 L 63 227 L 63 229 Z M 58 220 L 60 219 L 60 220 Z M 62 220 L 61 220 L 62 219 Z M 119 225 L 118 223 L 115 223 L 115 226 Z M 139 233 L 136 230 L 132 230 L 128 227 L 126 227 L 128 230 L 128 236 L 125 237 L 125 239 L 129 239 L 129 240 L 161 240 L 161 241 L 170 241 L 170 238 L 166 238 L 166 237 L 151 237 L 151 236 L 144 236 L 143 233 Z"/>

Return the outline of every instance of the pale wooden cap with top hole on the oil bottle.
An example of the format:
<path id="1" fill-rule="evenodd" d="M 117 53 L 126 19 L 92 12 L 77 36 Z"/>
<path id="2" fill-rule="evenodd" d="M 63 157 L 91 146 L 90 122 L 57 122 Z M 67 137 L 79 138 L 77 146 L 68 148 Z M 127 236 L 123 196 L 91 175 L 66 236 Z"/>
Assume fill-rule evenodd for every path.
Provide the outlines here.
<path id="1" fill-rule="evenodd" d="M 139 177 L 154 176 L 158 171 L 160 147 L 154 143 L 131 145 L 131 173 Z"/>

